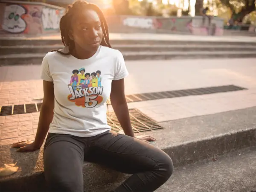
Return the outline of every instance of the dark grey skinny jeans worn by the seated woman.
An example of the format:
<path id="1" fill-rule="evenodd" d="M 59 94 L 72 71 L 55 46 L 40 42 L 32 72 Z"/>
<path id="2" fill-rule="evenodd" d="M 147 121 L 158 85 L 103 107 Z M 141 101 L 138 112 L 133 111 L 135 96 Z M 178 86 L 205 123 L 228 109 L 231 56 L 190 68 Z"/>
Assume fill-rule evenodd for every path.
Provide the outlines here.
<path id="1" fill-rule="evenodd" d="M 84 160 L 133 174 L 113 192 L 153 192 L 173 172 L 171 158 L 144 141 L 106 131 L 94 137 L 49 133 L 44 175 L 50 192 L 83 192 Z"/>

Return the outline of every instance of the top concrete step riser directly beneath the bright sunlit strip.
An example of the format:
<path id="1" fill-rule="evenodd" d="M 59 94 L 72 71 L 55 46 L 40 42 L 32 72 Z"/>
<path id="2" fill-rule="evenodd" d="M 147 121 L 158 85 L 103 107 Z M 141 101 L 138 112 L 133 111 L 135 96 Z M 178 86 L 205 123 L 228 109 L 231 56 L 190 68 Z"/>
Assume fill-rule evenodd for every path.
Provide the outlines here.
<path id="1" fill-rule="evenodd" d="M 136 35 L 136 34 L 134 34 Z M 153 34 L 152 34 L 153 35 Z M 220 41 L 216 39 L 216 41 L 200 41 L 200 40 L 189 40 L 189 41 L 182 41 L 182 40 L 169 40 L 169 39 L 113 39 L 110 40 L 110 43 L 113 45 L 133 45 L 133 44 L 164 44 L 164 45 L 189 45 L 189 44 L 196 44 L 196 45 L 252 45 L 256 46 L 256 42 L 253 41 Z M 0 38 L 0 45 L 1 46 L 18 46 L 18 45 L 55 45 L 55 44 L 62 44 L 60 38 L 55 39 L 26 39 L 26 38 Z"/>

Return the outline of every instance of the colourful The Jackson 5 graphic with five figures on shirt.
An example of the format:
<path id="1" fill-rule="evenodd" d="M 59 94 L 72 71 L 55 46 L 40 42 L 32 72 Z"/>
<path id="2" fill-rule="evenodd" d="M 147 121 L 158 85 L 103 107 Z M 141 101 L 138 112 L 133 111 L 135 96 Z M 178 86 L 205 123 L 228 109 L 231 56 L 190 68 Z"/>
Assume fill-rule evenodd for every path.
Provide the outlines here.
<path id="1" fill-rule="evenodd" d="M 100 104 L 103 101 L 101 71 L 85 73 L 82 67 L 79 70 L 73 70 L 72 73 L 68 84 L 71 93 L 68 100 L 84 108 L 94 108 Z"/>

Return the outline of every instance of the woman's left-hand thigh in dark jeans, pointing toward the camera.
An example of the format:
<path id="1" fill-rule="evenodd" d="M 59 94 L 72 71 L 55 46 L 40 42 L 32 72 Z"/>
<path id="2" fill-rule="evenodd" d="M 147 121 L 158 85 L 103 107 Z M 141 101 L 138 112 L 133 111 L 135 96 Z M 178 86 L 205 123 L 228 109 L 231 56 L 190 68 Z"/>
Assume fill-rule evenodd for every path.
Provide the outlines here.
<path id="1" fill-rule="evenodd" d="M 44 175 L 50 192 L 83 192 L 83 144 L 71 135 L 49 134 Z"/>

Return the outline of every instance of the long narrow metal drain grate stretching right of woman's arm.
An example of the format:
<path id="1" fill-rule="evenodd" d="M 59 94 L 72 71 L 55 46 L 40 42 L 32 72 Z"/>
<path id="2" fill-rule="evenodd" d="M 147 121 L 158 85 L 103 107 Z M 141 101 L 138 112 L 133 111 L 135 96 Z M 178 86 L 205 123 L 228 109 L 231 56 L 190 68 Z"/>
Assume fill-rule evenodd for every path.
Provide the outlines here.
<path id="1" fill-rule="evenodd" d="M 204 95 L 212 93 L 223 93 L 230 91 L 246 90 L 243 87 L 237 87 L 235 85 L 225 85 L 218 87 L 204 87 L 198 89 L 186 89 L 186 90 L 174 90 L 174 91 L 163 91 L 163 92 L 154 92 L 154 93 L 142 93 L 135 95 L 126 95 L 127 102 L 139 102 L 139 101 L 148 101 L 152 99 L 165 99 L 173 97 L 183 97 L 191 95 Z"/>

